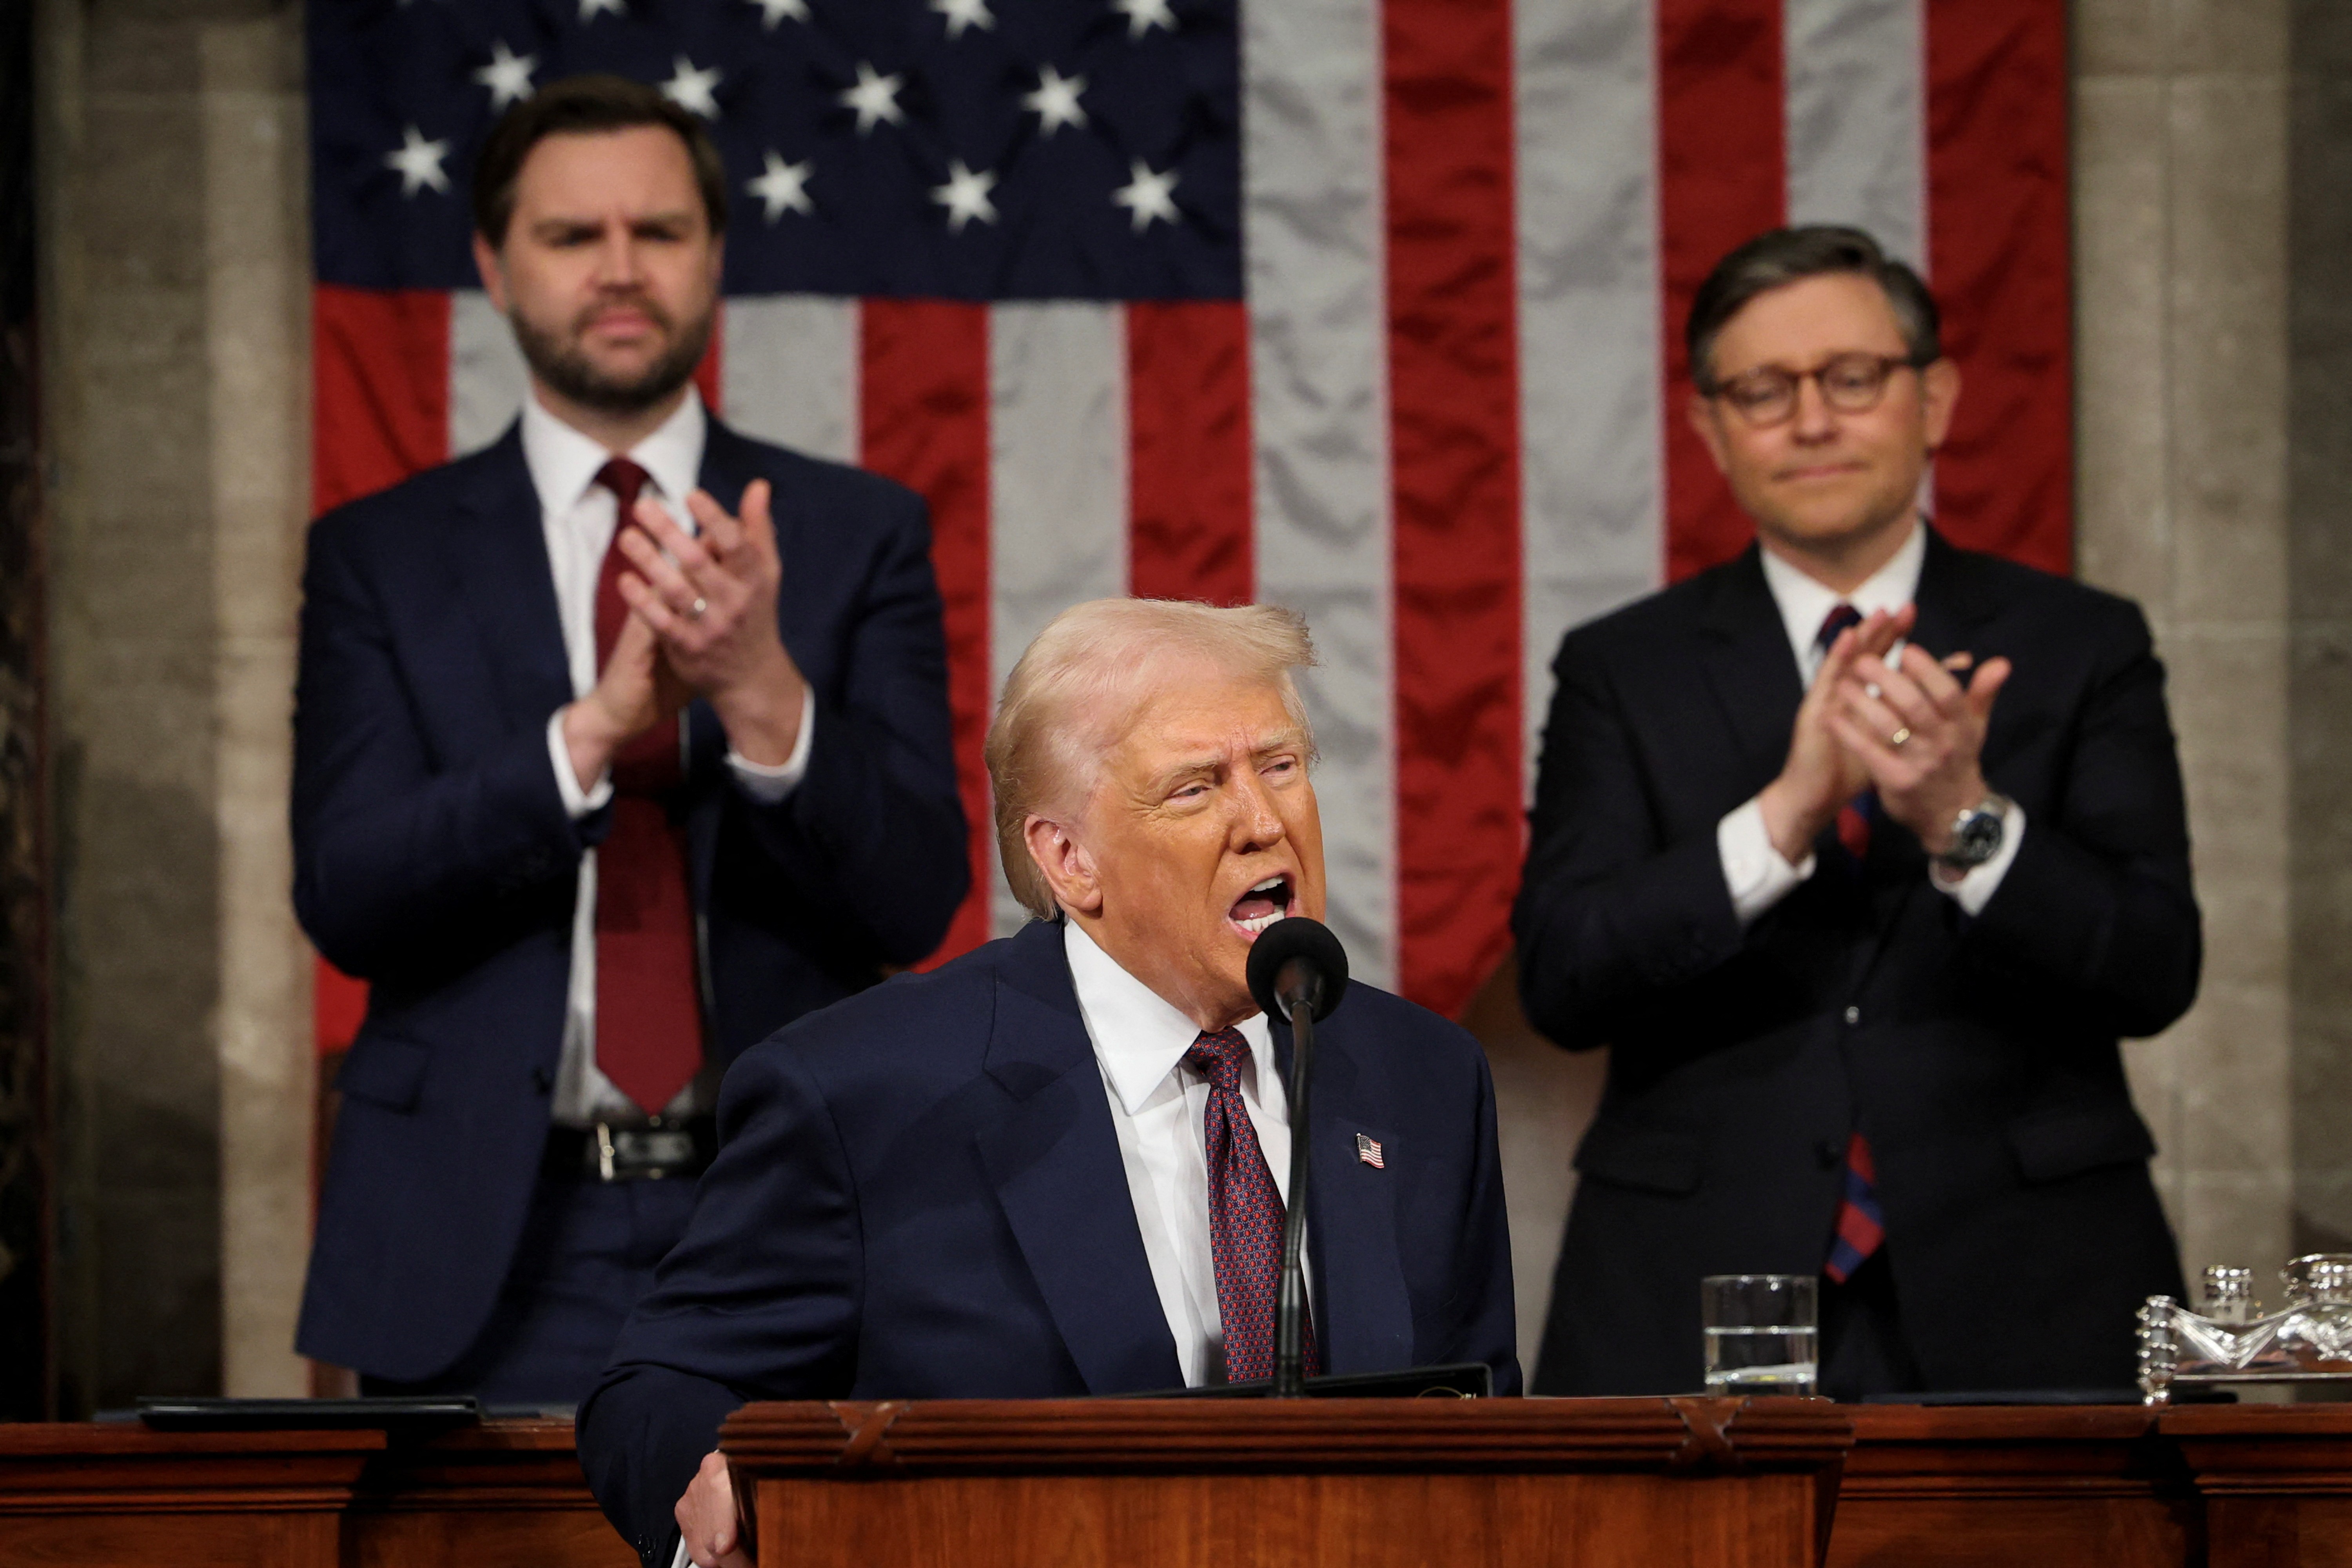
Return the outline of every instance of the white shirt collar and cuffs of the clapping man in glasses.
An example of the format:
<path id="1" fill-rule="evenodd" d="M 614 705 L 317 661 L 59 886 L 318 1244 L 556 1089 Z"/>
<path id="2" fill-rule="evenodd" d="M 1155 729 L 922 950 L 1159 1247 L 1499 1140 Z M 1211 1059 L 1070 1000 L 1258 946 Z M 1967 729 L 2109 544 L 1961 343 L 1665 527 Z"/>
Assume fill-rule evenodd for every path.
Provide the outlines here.
<path id="1" fill-rule="evenodd" d="M 1882 609 L 1893 611 L 1910 604 L 1919 592 L 1919 567 L 1926 564 L 1926 524 L 1912 524 L 1910 538 L 1903 541 L 1893 559 L 1870 574 L 1853 592 L 1837 592 L 1809 578 L 1769 548 L 1759 555 L 1764 559 L 1764 585 L 1771 588 L 1780 625 L 1788 630 L 1788 646 L 1797 656 L 1797 677 L 1811 686 L 1825 656 L 1825 649 L 1816 639 L 1820 637 L 1820 623 L 1828 621 L 1832 609 L 1851 604 L 1865 616 Z M 1900 644 L 1889 654 L 1889 663 L 1893 663 L 1898 651 Z M 2018 858 L 2018 842 L 2023 837 L 2025 809 L 2009 802 L 2009 813 L 2002 818 L 1999 853 L 1971 867 L 1959 882 L 1940 882 L 1931 872 L 1929 886 L 1959 900 L 1959 907 L 1969 914 L 1980 914 L 1992 900 L 1992 891 L 2002 886 L 2009 863 Z M 1759 799 L 1733 806 L 1715 825 L 1715 849 L 1724 860 L 1724 886 L 1731 889 L 1731 910 L 1740 917 L 1743 926 L 1788 898 L 1797 884 L 1818 870 L 1820 860 L 1809 853 L 1802 865 L 1790 865 L 1773 849 Z"/>

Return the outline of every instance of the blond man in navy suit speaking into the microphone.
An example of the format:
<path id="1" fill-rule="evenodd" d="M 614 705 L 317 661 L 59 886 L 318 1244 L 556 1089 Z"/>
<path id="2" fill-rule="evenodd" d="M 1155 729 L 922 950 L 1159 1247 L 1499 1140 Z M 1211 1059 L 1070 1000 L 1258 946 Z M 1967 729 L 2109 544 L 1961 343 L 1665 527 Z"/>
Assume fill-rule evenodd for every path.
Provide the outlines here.
<path id="1" fill-rule="evenodd" d="M 1063 611 L 988 736 L 1037 917 L 736 1060 L 687 1239 L 581 1410 L 628 1542 L 734 1561 L 753 1399 L 1018 1399 L 1263 1378 L 1291 1124 L 1258 931 L 1322 917 L 1315 741 L 1277 609 Z M 1494 1084 L 1369 985 L 1315 1034 L 1310 1371 L 1484 1361 L 1515 1394 Z"/>

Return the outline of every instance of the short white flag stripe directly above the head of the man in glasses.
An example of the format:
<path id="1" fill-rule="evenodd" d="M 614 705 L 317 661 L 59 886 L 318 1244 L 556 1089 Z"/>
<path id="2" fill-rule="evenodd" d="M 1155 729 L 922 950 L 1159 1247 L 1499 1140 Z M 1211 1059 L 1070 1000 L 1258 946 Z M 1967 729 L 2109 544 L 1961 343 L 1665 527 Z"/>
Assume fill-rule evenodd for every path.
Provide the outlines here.
<path id="1" fill-rule="evenodd" d="M 1919 0 L 1788 0 L 1788 221 L 1853 223 L 1926 270 Z"/>

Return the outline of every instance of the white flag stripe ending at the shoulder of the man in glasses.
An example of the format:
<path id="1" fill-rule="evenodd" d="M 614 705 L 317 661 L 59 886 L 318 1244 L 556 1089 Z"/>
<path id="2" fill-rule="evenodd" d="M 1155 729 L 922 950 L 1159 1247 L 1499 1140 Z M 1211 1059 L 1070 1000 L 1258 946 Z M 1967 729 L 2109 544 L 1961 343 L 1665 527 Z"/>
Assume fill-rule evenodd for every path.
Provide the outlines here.
<path id="1" fill-rule="evenodd" d="M 1526 783 L 1562 632 L 1658 585 L 1665 451 L 1649 0 L 1519 0 Z"/>

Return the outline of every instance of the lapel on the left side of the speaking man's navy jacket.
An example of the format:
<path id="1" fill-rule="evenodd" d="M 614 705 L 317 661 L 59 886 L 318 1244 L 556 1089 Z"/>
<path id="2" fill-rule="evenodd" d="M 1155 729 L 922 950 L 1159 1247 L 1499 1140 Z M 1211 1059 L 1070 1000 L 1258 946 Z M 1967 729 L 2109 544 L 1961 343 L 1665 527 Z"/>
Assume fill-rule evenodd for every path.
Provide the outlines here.
<path id="1" fill-rule="evenodd" d="M 997 978 L 988 1077 L 1007 1117 L 981 1166 L 1089 1394 L 1183 1382 L 1176 1340 L 1129 1201 L 1094 1044 L 1077 1013 L 1061 926 L 1033 924 Z"/>

